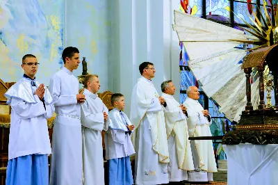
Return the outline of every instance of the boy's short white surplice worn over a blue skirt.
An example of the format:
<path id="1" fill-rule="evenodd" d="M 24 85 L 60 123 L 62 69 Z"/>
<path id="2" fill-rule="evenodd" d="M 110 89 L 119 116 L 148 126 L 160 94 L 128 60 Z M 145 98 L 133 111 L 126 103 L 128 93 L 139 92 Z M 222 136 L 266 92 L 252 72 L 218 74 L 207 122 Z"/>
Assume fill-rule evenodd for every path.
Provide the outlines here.
<path id="1" fill-rule="evenodd" d="M 126 127 L 126 124 L 131 125 L 131 122 L 125 113 L 122 112 L 122 115 L 125 122 L 116 108 L 109 112 L 109 128 L 105 134 L 106 160 L 118 159 L 135 153 L 129 130 Z"/>

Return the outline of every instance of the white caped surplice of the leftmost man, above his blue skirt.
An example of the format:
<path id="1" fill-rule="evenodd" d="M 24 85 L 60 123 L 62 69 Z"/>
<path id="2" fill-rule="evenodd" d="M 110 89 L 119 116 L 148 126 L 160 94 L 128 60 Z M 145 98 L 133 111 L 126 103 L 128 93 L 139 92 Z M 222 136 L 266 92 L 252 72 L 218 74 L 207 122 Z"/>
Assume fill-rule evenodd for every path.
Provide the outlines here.
<path id="1" fill-rule="evenodd" d="M 47 118 L 53 115 L 54 105 L 49 90 L 46 89 L 44 108 L 40 98 L 33 94 L 38 86 L 40 86 L 38 81 L 23 77 L 5 93 L 12 108 L 8 143 L 9 160 L 30 154 L 51 154 Z"/>

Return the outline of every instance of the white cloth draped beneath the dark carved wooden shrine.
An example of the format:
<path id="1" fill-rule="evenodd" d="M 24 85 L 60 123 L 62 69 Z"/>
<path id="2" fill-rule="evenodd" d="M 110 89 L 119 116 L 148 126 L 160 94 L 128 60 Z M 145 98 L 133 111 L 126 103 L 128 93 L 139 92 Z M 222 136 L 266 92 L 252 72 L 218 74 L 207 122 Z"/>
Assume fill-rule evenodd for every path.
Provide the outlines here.
<path id="1" fill-rule="evenodd" d="M 223 145 L 229 185 L 278 183 L 278 145 Z"/>

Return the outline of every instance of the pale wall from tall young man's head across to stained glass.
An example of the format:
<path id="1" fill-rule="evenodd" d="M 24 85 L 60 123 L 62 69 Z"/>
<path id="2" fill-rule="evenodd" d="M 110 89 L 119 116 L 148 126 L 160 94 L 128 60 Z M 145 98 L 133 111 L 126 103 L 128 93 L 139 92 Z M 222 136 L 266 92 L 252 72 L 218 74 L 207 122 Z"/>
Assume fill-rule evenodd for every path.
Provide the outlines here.
<path id="1" fill-rule="evenodd" d="M 154 86 L 172 79 L 179 99 L 179 40 L 172 31 L 179 0 L 66 0 L 65 46 L 86 56 L 88 72 L 99 74 L 101 92 L 122 93 L 129 115 L 138 66 L 154 63 Z M 74 74 L 82 73 L 80 66 Z"/>

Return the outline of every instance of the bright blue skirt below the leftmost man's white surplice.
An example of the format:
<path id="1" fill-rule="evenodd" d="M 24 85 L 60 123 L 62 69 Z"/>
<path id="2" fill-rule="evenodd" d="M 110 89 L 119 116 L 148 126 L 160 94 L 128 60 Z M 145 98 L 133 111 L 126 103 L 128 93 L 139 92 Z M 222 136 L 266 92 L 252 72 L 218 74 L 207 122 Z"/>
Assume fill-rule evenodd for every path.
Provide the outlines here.
<path id="1" fill-rule="evenodd" d="M 48 157 L 31 154 L 10 159 L 6 175 L 6 185 L 48 185 Z"/>

